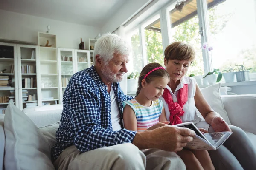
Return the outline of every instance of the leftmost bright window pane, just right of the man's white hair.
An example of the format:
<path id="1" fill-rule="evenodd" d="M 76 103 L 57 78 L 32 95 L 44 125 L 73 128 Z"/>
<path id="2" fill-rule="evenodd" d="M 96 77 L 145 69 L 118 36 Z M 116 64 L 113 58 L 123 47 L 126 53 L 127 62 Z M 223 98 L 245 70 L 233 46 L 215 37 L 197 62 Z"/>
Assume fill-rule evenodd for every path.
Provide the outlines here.
<path id="1" fill-rule="evenodd" d="M 128 39 L 132 48 L 132 54 L 130 55 L 130 61 L 128 62 L 127 68 L 128 73 L 138 72 L 143 68 L 143 57 L 142 57 L 142 48 L 140 45 L 140 35 L 139 29 L 137 28 L 133 31 Z"/>

